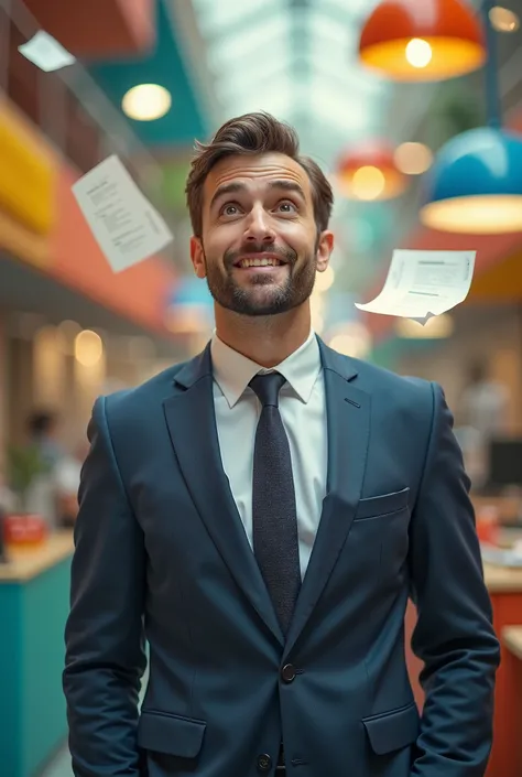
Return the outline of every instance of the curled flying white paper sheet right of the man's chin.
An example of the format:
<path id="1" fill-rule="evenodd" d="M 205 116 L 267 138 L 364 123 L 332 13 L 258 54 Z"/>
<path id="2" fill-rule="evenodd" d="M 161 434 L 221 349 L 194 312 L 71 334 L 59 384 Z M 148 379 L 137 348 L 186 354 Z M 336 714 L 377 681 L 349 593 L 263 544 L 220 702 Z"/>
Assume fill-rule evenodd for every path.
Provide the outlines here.
<path id="1" fill-rule="evenodd" d="M 384 287 L 374 300 L 356 307 L 368 313 L 413 319 L 425 324 L 468 295 L 477 251 L 398 249 Z"/>

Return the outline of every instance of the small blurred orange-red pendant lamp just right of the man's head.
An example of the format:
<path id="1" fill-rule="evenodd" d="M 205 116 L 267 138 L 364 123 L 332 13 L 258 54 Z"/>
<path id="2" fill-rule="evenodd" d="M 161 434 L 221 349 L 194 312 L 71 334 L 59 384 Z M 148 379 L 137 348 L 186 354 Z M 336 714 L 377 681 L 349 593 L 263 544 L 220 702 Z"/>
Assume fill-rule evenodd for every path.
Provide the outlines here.
<path id="1" fill-rule="evenodd" d="M 395 164 L 393 149 L 374 141 L 357 145 L 340 158 L 337 183 L 349 199 L 374 202 L 398 197 L 407 180 Z"/>

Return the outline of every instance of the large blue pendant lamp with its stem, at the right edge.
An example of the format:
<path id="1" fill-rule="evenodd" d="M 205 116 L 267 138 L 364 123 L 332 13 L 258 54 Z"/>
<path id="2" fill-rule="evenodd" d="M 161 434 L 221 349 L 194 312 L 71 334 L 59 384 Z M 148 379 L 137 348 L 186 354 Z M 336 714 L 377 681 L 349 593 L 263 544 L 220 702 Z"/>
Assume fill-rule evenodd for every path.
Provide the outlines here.
<path id="1" fill-rule="evenodd" d="M 421 222 L 432 229 L 494 235 L 522 230 L 522 137 L 501 127 L 492 0 L 482 6 L 488 127 L 453 138 L 426 176 Z"/>

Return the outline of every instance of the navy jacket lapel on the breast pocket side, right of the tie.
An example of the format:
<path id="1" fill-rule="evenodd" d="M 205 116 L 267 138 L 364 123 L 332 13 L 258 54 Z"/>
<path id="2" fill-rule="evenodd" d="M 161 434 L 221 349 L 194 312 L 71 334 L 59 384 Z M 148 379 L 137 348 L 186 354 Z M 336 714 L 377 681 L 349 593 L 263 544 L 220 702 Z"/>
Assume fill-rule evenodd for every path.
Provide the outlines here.
<path id="1" fill-rule="evenodd" d="M 370 436 L 370 395 L 350 384 L 357 375 L 354 363 L 320 341 L 319 347 L 327 412 L 327 487 L 285 655 L 306 625 L 350 531 L 362 489 Z"/>

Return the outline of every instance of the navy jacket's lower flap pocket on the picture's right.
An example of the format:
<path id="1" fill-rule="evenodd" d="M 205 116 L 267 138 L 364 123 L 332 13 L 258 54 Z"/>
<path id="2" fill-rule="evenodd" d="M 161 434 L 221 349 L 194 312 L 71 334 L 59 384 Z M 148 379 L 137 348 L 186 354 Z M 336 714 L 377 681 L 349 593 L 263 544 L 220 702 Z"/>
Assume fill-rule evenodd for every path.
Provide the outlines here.
<path id="1" fill-rule="evenodd" d="M 362 723 L 373 753 L 392 753 L 416 742 L 420 731 L 417 705 L 412 702 L 400 710 L 363 717 Z"/>

